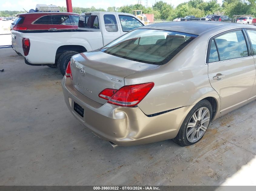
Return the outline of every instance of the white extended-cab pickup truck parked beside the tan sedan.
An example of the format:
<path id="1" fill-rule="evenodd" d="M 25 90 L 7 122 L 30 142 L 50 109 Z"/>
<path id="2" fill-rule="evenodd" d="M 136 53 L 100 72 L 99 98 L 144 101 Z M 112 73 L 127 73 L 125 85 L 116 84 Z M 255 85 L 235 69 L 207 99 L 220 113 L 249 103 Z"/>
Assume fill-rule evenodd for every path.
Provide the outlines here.
<path id="1" fill-rule="evenodd" d="M 12 45 L 26 64 L 58 67 L 64 75 L 73 55 L 98 49 L 143 25 L 132 14 L 87 12 L 80 15 L 77 30 L 12 30 Z"/>

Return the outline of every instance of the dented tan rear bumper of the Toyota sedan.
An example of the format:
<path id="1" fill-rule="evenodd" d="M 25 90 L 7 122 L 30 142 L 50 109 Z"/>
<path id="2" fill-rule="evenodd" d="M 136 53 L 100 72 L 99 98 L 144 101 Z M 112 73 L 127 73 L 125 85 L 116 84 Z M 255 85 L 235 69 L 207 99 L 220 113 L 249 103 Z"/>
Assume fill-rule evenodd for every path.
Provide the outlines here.
<path id="1" fill-rule="evenodd" d="M 130 146 L 175 138 L 185 116 L 193 106 L 186 106 L 158 116 L 148 117 L 139 107 L 119 107 L 97 103 L 71 84 L 62 80 L 62 90 L 68 109 L 83 125 L 99 137 L 117 145 Z M 74 110 L 74 102 L 84 108 L 84 117 Z"/>

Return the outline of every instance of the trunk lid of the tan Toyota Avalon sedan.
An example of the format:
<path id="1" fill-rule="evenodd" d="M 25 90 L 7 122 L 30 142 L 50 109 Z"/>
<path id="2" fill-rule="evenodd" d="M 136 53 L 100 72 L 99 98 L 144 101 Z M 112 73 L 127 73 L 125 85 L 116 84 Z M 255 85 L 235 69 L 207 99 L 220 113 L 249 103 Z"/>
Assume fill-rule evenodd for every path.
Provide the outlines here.
<path id="1" fill-rule="evenodd" d="M 72 84 L 81 94 L 104 104 L 107 100 L 98 97 L 102 90 L 118 90 L 125 85 L 126 76 L 157 66 L 112 56 L 99 50 L 80 53 L 73 56 L 71 62 Z"/>

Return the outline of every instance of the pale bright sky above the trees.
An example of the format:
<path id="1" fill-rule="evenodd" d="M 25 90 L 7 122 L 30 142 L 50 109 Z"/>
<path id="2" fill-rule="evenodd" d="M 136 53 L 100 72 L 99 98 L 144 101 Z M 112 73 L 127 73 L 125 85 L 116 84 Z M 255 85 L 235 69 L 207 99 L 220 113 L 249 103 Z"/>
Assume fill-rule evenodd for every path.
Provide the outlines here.
<path id="1" fill-rule="evenodd" d="M 188 0 L 163 0 L 168 4 L 174 5 L 176 7 L 180 3 L 188 2 Z M 205 0 L 209 1 L 209 0 Z M 147 0 L 139 0 L 142 5 L 146 6 Z M 148 7 L 152 7 L 156 0 L 148 0 Z M 222 0 L 218 0 L 221 4 Z M 74 7 L 83 7 L 89 8 L 94 6 L 95 8 L 104 8 L 105 10 L 108 7 L 121 7 L 124 5 L 131 5 L 138 3 L 138 0 L 130 0 L 128 1 L 120 1 L 120 0 L 72 0 L 72 6 Z M 35 9 L 36 4 L 47 4 L 47 5 L 57 5 L 57 6 L 66 6 L 66 0 L 1 0 L 0 1 L 0 11 L 8 10 L 8 11 L 20 11 L 23 8 L 27 11 L 29 9 Z"/>

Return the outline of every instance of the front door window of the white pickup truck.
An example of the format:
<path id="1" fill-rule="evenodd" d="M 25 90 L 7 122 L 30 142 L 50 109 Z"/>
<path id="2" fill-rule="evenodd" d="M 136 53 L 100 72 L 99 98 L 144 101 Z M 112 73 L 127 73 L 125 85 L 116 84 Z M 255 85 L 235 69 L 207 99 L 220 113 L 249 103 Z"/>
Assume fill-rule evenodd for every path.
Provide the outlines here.
<path id="1" fill-rule="evenodd" d="M 138 21 L 136 18 L 131 16 L 119 15 L 119 19 L 121 22 L 123 32 L 128 32 L 130 30 L 134 30 L 138 27 L 143 26 L 143 24 L 141 24 L 140 21 Z"/>

